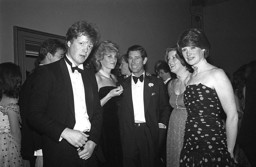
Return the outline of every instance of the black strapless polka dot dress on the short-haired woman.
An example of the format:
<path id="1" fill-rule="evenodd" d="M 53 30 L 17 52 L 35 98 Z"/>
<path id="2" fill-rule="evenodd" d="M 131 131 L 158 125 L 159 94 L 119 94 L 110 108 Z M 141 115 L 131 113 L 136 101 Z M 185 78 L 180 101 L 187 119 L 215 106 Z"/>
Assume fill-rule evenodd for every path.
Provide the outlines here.
<path id="1" fill-rule="evenodd" d="M 227 148 L 226 129 L 220 118 L 221 104 L 214 88 L 188 85 L 184 92 L 188 110 L 180 166 L 235 166 Z"/>

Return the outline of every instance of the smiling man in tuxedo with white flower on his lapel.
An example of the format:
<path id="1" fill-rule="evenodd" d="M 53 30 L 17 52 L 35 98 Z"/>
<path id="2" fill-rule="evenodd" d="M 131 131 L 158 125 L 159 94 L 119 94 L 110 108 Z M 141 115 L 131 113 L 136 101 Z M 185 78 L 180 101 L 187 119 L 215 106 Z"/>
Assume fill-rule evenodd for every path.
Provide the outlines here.
<path id="1" fill-rule="evenodd" d="M 130 47 L 127 57 L 132 74 L 121 83 L 124 91 L 119 102 L 124 166 L 157 166 L 158 146 L 170 116 L 168 95 L 162 79 L 145 75 L 143 47 Z"/>

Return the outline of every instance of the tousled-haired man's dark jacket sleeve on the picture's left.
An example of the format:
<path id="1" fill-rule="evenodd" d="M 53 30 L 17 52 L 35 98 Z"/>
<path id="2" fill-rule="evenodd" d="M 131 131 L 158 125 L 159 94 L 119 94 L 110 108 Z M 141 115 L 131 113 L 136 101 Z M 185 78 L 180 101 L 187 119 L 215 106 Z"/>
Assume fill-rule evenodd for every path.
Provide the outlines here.
<path id="1" fill-rule="evenodd" d="M 46 65 L 35 72 L 35 78 L 31 82 L 31 88 L 27 119 L 38 131 L 58 142 L 60 135 L 66 126 L 59 123 L 56 119 L 51 118 L 48 115 L 49 113 L 46 112 L 51 91 L 54 89 L 53 79 L 51 78 Z"/>

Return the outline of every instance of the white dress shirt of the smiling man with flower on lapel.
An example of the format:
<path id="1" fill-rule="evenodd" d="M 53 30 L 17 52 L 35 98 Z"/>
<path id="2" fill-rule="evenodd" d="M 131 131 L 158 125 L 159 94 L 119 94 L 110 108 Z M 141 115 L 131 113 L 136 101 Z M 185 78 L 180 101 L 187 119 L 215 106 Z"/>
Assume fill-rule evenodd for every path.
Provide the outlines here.
<path id="1" fill-rule="evenodd" d="M 145 77 L 145 71 L 142 74 Z M 141 82 L 138 79 L 138 82 L 135 84 L 133 81 L 132 73 L 132 103 L 133 103 L 133 110 L 134 110 L 134 120 L 135 123 L 145 123 L 145 113 L 144 113 L 144 98 L 143 98 L 143 90 L 144 90 L 144 79 Z"/>

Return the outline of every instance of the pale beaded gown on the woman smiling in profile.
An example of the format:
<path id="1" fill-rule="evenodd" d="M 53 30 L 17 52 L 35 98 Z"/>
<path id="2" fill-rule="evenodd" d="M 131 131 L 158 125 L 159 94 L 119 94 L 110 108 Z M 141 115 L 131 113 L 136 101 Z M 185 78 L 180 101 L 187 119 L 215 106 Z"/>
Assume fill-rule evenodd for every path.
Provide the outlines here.
<path id="1" fill-rule="evenodd" d="M 166 143 L 166 165 L 170 167 L 179 166 L 180 151 L 183 147 L 185 124 L 187 119 L 187 108 L 184 104 L 183 95 L 175 93 L 175 80 L 168 85 L 169 103 L 173 107 L 169 119 Z"/>

